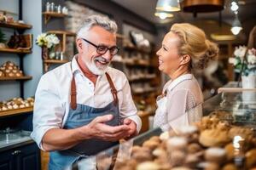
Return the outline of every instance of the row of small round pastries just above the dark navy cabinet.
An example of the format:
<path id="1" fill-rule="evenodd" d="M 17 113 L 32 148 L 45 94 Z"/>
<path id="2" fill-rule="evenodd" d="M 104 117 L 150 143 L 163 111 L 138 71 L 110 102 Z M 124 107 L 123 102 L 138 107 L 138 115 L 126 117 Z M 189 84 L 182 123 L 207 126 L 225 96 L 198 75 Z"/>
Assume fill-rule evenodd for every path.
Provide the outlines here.
<path id="1" fill-rule="evenodd" d="M 8 101 L 0 101 L 0 111 L 10 111 L 15 109 L 22 109 L 26 107 L 32 107 L 34 105 L 33 98 L 14 98 Z"/>

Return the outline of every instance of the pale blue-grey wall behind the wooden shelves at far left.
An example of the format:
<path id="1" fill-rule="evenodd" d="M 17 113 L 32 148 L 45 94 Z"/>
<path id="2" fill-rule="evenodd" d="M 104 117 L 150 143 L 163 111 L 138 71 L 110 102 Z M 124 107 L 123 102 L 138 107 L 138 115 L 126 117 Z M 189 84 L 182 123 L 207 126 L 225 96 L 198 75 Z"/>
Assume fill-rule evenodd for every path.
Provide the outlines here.
<path id="1" fill-rule="evenodd" d="M 32 54 L 26 54 L 24 57 L 24 72 L 26 75 L 32 76 L 32 80 L 25 82 L 24 95 L 30 97 L 35 94 L 35 90 L 38 85 L 38 80 L 43 73 L 42 60 L 41 60 L 41 48 L 35 45 L 35 38 L 42 31 L 41 24 L 41 0 L 23 0 L 23 20 L 32 25 L 31 30 L 25 31 L 25 33 L 33 34 L 33 48 Z M 18 19 L 19 13 L 19 1 L 18 0 L 0 0 L 1 10 L 7 10 L 15 13 L 15 20 Z M 7 39 L 13 34 L 13 29 L 0 28 L 4 31 Z M 0 53 L 0 65 L 3 65 L 6 61 L 13 61 L 16 65 L 20 65 L 20 59 L 17 54 L 4 54 Z M 0 101 L 11 99 L 20 96 L 20 83 L 19 82 L 0 82 Z"/>

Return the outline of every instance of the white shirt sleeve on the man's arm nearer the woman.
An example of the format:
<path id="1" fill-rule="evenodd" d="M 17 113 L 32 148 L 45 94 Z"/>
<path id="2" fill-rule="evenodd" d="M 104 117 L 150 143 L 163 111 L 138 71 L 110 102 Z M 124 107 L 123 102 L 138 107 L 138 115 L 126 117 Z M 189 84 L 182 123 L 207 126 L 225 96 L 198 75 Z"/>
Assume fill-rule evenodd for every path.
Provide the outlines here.
<path id="1" fill-rule="evenodd" d="M 124 75 L 125 76 L 125 75 Z M 123 92 L 123 102 L 120 105 L 120 116 L 123 118 L 129 118 L 137 124 L 137 133 L 142 128 L 142 120 L 137 116 L 137 108 L 132 100 L 131 88 L 127 78 L 125 77 L 125 84 L 122 89 Z"/>

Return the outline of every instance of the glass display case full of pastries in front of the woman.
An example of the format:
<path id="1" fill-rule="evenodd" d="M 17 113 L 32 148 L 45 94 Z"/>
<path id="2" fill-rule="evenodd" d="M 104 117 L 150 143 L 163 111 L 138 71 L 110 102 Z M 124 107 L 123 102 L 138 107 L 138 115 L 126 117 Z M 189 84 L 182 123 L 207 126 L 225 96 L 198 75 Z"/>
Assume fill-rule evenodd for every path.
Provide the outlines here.
<path id="1" fill-rule="evenodd" d="M 78 161 L 73 169 L 255 169 L 255 98 L 253 92 L 218 94 L 202 105 L 200 122 L 175 131 L 154 128 Z"/>

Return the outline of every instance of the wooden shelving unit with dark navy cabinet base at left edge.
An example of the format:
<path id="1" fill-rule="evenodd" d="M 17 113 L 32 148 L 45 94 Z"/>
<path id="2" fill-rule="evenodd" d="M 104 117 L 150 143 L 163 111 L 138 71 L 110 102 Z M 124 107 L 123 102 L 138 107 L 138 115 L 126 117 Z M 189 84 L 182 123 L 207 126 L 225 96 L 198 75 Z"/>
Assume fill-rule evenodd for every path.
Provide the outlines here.
<path id="1" fill-rule="evenodd" d="M 9 7 L 16 7 L 18 5 L 18 10 L 17 11 L 19 18 L 17 20 L 23 20 L 22 19 L 22 9 L 23 9 L 23 4 L 25 4 L 25 2 L 22 0 L 19 0 L 13 4 L 11 4 L 11 6 Z M 7 8 L 9 8 L 7 7 Z M 6 8 L 6 7 L 4 7 Z M 14 29 L 15 31 L 19 32 L 19 34 L 23 34 L 24 31 L 26 31 L 26 29 L 31 29 L 32 26 L 31 25 L 27 25 L 27 24 L 21 24 L 18 22 L 14 22 L 14 23 L 0 23 L 0 27 L 5 27 L 5 28 L 10 28 L 10 29 Z M 5 29 L 4 29 L 5 30 Z M 30 54 L 32 53 L 32 35 L 24 35 L 27 46 L 29 48 L 18 48 L 18 49 L 11 49 L 11 48 L 0 48 L 0 53 L 4 53 L 6 55 L 6 57 L 9 58 L 9 55 L 7 55 L 7 53 L 12 54 L 12 56 L 19 56 L 20 59 L 20 64 L 17 65 L 20 67 L 20 70 L 24 71 L 23 69 L 23 65 L 25 64 L 23 61 L 23 58 L 26 56 L 26 54 Z M 28 38 L 27 38 L 28 37 Z M 3 56 L 3 54 L 1 54 L 1 57 Z M 34 56 L 37 57 L 37 56 Z M 9 59 L 7 59 L 9 60 Z M 2 63 L 1 63 L 2 65 Z M 5 68 L 7 70 L 10 71 L 10 69 L 7 67 Z M 16 68 L 15 68 L 16 69 Z M 6 70 L 6 71 L 7 71 Z M 24 77 L 0 77 L 0 81 L 2 81 L 3 83 L 7 82 L 7 83 L 13 83 L 13 82 L 8 82 L 8 81 L 18 81 L 20 83 L 20 96 L 21 98 L 24 99 L 24 82 L 27 80 L 31 80 L 32 77 L 30 76 L 24 76 Z M 2 83 L 1 82 L 1 83 Z M 9 90 L 12 90 L 12 86 L 9 86 L 8 88 Z M 7 89 L 7 90 L 8 90 Z M 2 89 L 3 91 L 6 89 Z M 0 94 L 3 93 L 0 92 Z M 3 93 L 4 94 L 4 93 Z M 2 96 L 3 97 L 3 96 Z M 18 97 L 18 96 L 15 96 Z M 6 96 L 4 98 L 7 98 Z M 7 100 L 7 99 L 4 99 Z M 20 101 L 20 100 L 19 100 Z M 9 102 L 9 101 L 8 101 Z M 16 102 L 16 101 L 14 101 Z M 19 103 L 19 102 L 17 102 Z M 3 104 L 3 111 L 1 109 L 0 111 L 0 130 L 4 130 L 4 129 L 19 129 L 20 130 L 26 130 L 26 131 L 31 131 L 32 130 L 32 111 L 33 111 L 33 107 L 29 106 L 32 105 L 31 103 L 29 103 L 29 107 L 25 107 L 25 105 L 20 105 L 15 103 L 15 105 L 13 105 L 13 103 L 11 103 L 11 105 L 13 105 L 15 108 L 20 107 L 24 107 L 24 108 L 20 108 L 20 109 L 12 109 L 12 110 L 6 110 L 8 107 L 6 107 L 5 103 Z M 18 105 L 18 107 L 17 107 Z M 1 108 L 2 108 L 2 104 L 1 104 Z M 10 107 L 9 107 L 10 108 Z M 21 131 L 20 131 L 21 132 Z M 35 169 L 38 170 L 40 169 L 40 155 L 39 155 L 39 149 L 37 144 L 35 144 L 32 139 L 30 138 L 29 134 L 30 133 L 23 133 L 21 135 L 16 135 L 17 133 L 9 133 L 11 136 L 15 136 L 15 139 L 9 138 L 8 133 L 6 133 L 6 135 L 4 135 L 2 133 L 2 137 L 5 136 L 5 138 L 1 138 L 1 151 L 0 151 L 0 157 L 1 157 L 1 161 L 0 161 L 0 168 L 1 169 Z M 24 137 L 24 138 L 23 138 Z"/>

